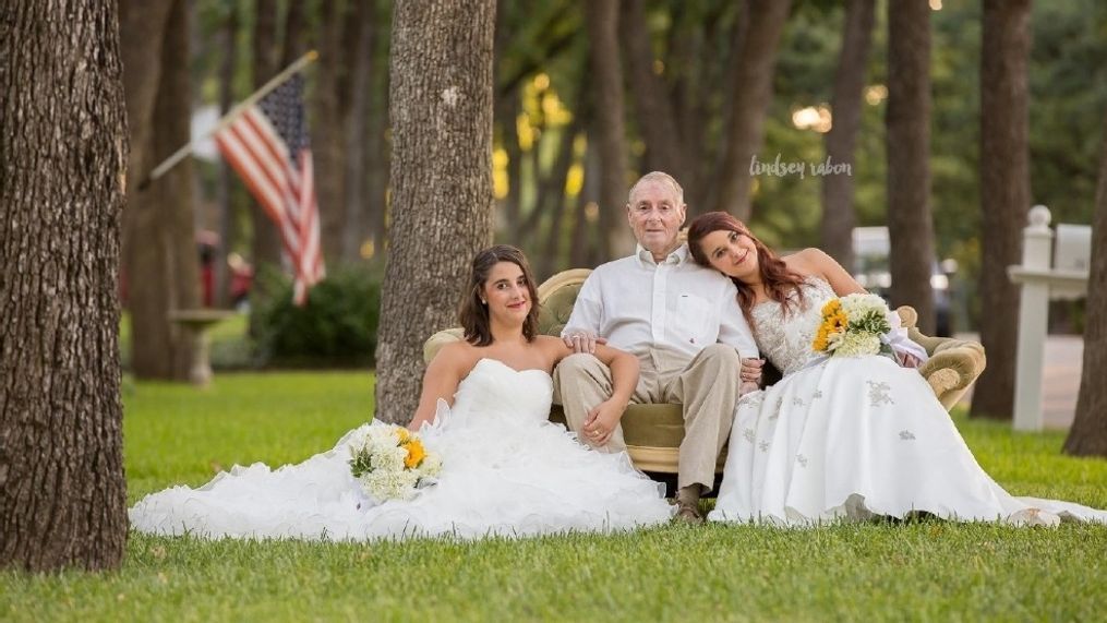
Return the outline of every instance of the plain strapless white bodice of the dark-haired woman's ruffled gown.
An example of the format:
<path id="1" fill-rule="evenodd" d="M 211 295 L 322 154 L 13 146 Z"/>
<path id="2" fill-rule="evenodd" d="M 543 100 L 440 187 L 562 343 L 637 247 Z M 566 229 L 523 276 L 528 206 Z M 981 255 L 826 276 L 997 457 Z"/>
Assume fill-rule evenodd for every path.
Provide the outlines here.
<path id="1" fill-rule="evenodd" d="M 454 417 L 478 414 L 536 422 L 549 417 L 554 381 L 544 370 L 515 370 L 493 359 L 477 362 L 454 394 Z"/>

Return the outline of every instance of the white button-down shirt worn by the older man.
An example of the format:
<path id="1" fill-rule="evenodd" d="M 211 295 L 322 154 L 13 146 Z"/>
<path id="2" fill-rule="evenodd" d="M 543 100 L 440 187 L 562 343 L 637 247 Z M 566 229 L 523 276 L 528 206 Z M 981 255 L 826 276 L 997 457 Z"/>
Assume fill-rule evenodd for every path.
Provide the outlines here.
<path id="1" fill-rule="evenodd" d="M 576 332 L 607 338 L 609 345 L 640 356 L 659 349 L 691 361 L 715 342 L 743 357 L 757 356 L 734 283 L 695 263 L 687 245 L 661 263 L 639 246 L 634 256 L 593 270 L 561 334 Z"/>

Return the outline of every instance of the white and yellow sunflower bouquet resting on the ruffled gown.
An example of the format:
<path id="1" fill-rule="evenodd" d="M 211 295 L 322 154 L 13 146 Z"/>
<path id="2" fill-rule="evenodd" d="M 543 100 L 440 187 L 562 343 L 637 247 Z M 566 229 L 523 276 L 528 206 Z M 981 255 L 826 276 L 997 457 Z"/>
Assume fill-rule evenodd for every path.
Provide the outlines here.
<path id="1" fill-rule="evenodd" d="M 434 482 L 442 460 L 403 426 L 374 425 L 350 442 L 350 471 L 379 502 L 410 500 Z"/>

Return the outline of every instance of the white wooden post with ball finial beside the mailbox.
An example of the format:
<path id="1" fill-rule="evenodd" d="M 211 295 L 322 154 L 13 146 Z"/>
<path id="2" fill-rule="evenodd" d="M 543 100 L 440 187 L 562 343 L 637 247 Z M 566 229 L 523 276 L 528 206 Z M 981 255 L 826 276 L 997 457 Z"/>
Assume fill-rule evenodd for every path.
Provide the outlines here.
<path id="1" fill-rule="evenodd" d="M 1023 229 L 1023 270 L 1049 270 L 1053 255 L 1051 218 L 1045 206 L 1031 208 L 1030 225 Z M 1041 430 L 1042 363 L 1049 318 L 1049 283 L 1044 280 L 1025 281 L 1021 290 L 1014 427 L 1016 430 Z"/>

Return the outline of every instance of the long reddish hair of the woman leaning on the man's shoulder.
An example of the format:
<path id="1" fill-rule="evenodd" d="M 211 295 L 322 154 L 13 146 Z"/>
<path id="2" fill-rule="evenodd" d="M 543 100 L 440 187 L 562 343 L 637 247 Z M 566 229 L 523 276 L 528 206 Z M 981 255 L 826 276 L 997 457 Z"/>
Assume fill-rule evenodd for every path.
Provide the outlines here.
<path id="1" fill-rule="evenodd" d="M 804 276 L 789 269 L 788 264 L 784 263 L 784 260 L 773 249 L 766 247 L 764 242 L 749 231 L 746 224 L 726 212 L 700 215 L 689 226 L 689 250 L 692 252 L 692 257 L 696 263 L 711 267 L 702 242 L 713 231 L 734 231 L 753 240 L 754 248 L 757 249 L 757 270 L 761 272 L 765 294 L 769 299 L 780 303 L 784 313 L 787 314 L 793 311 L 795 305 L 803 304 L 804 290 L 799 288 L 799 284 L 804 282 Z M 746 321 L 752 325 L 754 323 L 754 301 L 757 299 L 757 295 L 753 288 L 738 279 L 732 277 L 731 281 L 738 289 L 738 307 L 742 308 L 742 313 L 745 314 Z M 795 298 L 793 298 L 793 293 L 796 294 Z"/>

